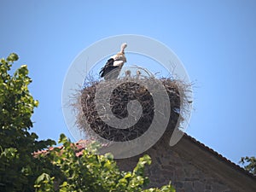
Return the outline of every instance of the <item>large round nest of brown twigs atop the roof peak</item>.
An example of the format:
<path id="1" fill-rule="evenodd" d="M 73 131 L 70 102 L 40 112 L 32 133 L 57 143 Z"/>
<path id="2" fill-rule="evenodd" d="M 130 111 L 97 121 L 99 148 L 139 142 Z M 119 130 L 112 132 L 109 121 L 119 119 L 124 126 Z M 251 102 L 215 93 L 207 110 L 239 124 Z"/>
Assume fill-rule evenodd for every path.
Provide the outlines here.
<path id="1" fill-rule="evenodd" d="M 131 78 L 132 79 L 132 78 Z M 130 79 L 130 80 L 131 80 Z M 181 119 L 184 101 L 187 102 L 185 92 L 187 85 L 173 79 L 158 79 L 166 88 L 171 105 L 171 113 L 168 124 L 168 129 L 173 130 Z M 136 83 L 135 83 L 136 82 Z M 96 108 L 96 91 L 101 84 L 102 87 L 108 90 L 113 90 L 110 94 L 108 102 L 111 108 L 111 115 L 117 119 L 125 119 L 129 115 L 127 104 L 130 101 L 136 100 L 140 102 L 142 107 L 142 115 L 137 119 L 137 123 L 125 129 L 117 129 L 108 125 L 102 119 L 108 119 L 108 113 L 102 116 L 105 108 Z M 118 84 L 118 85 L 117 85 Z M 85 133 L 88 137 L 93 137 L 96 133 L 98 136 L 113 142 L 131 141 L 143 135 L 148 130 L 154 119 L 154 99 L 147 88 L 141 84 L 154 84 L 152 79 L 136 79 L 136 81 L 124 81 L 124 79 L 115 79 L 110 81 L 93 81 L 84 86 L 80 90 L 78 100 L 75 104 L 77 108 L 77 125 L 79 130 Z M 157 88 L 155 88 L 157 89 Z M 108 97 L 108 94 L 101 93 L 102 97 Z M 165 106 L 163 105 L 163 108 Z M 102 110 L 102 111 L 99 111 Z M 109 117 L 110 118 L 110 117 Z"/>

